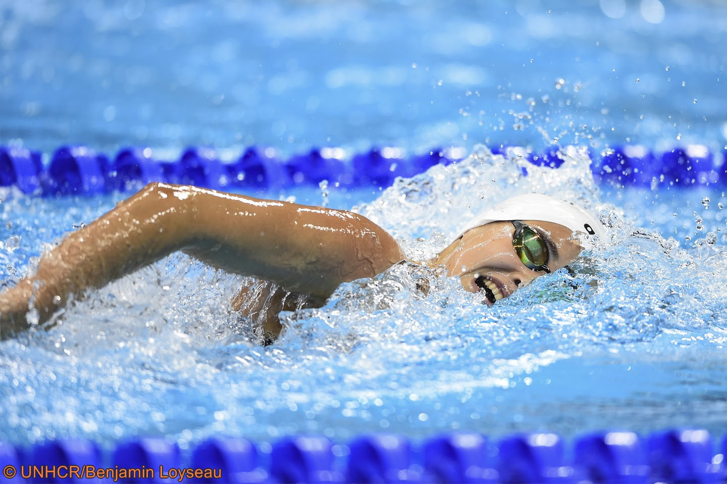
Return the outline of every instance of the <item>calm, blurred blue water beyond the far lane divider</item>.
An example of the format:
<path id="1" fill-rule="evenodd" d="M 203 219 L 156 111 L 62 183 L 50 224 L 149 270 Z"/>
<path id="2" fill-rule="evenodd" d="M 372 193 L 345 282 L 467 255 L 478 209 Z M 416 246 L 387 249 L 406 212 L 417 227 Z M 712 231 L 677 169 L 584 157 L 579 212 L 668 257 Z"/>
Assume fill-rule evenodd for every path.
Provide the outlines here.
<path id="1" fill-rule="evenodd" d="M 726 10 L 673 0 L 7 0 L 0 140 L 112 153 L 718 148 Z"/>

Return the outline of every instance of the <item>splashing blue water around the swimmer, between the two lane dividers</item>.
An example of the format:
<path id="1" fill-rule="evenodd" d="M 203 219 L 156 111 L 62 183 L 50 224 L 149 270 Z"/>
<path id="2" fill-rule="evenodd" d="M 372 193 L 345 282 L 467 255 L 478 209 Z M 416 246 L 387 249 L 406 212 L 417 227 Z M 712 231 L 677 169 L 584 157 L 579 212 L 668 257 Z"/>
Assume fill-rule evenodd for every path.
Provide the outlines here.
<path id="1" fill-rule="evenodd" d="M 591 181 L 585 156 L 523 177 L 517 162 L 473 155 L 400 179 L 356 210 L 416 258 L 441 250 L 483 199 L 515 186 L 587 197 L 611 226 L 609 239 L 574 263 L 575 276 L 556 271 L 492 307 L 440 274 L 423 297 L 396 267 L 342 285 L 321 309 L 284 314 L 284 336 L 268 347 L 228 312 L 240 277 L 172 255 L 76 302 L 55 328 L 1 344 L 9 405 L 0 437 L 724 432 L 723 194 L 667 191 L 650 205 L 619 191 L 617 204 L 603 203 L 611 196 Z M 2 204 L 3 219 L 17 221 L 8 263 L 22 271 L 45 241 L 119 197 L 11 194 Z M 696 236 L 677 242 L 684 231 Z"/>

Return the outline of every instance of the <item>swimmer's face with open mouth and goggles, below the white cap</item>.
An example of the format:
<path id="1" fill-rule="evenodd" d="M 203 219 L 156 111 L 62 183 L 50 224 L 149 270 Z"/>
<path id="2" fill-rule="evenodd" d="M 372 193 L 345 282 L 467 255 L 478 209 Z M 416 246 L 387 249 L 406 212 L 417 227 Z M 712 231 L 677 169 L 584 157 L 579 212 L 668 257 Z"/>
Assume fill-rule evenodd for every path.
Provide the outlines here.
<path id="1" fill-rule="evenodd" d="M 542 245 L 545 253 L 539 252 L 537 240 L 529 242 L 524 256 L 528 265 L 521 258 L 523 251 L 518 255 L 513 247 L 515 226 L 512 222 L 491 222 L 470 229 L 443 250 L 438 262 L 443 263 L 447 274 L 459 277 L 470 293 L 482 291 L 486 304 L 492 305 L 507 298 L 518 287 L 546 274 L 547 270 L 561 269 L 580 253 L 582 247 L 571 238 L 571 229 L 552 222 L 523 223 L 534 231 L 526 231 L 526 234 L 539 236 L 545 242 Z"/>

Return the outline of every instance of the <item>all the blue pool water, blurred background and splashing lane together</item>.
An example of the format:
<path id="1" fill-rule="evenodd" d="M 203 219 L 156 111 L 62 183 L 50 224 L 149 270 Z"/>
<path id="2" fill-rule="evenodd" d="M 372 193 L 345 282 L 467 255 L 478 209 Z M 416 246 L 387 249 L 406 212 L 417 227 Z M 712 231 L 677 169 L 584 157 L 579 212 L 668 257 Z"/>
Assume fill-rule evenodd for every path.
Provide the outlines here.
<path id="1" fill-rule="evenodd" d="M 284 314 L 268 347 L 228 312 L 240 277 L 172 255 L 0 342 L 0 439 L 727 432 L 722 189 L 598 186 L 585 151 L 724 146 L 727 6 L 620 5 L 4 2 L 1 143 L 456 146 L 470 157 L 385 191 L 266 195 L 364 213 L 412 258 L 524 191 L 583 198 L 610 229 L 575 276 L 491 308 L 435 273 L 422 297 L 398 267 Z M 499 143 L 579 148 L 523 177 Z M 2 191 L 0 284 L 123 197 Z"/>

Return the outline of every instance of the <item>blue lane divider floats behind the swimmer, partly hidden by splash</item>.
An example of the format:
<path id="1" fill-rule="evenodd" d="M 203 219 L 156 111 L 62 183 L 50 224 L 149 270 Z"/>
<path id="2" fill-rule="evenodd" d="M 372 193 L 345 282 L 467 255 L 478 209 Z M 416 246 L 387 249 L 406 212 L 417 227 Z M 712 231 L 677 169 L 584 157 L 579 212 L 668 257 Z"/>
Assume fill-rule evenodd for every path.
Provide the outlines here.
<path id="1" fill-rule="evenodd" d="M 564 151 L 542 152 L 513 146 L 494 146 L 493 154 L 524 159 L 538 167 L 558 169 Z M 567 151 L 567 150 L 566 150 Z M 41 154 L 27 148 L 0 146 L 0 186 L 17 186 L 26 194 L 98 194 L 139 189 L 151 181 L 190 183 L 213 189 L 241 187 L 270 190 L 323 180 L 337 186 L 389 186 L 398 177 L 411 177 L 435 164 L 461 159 L 460 149 L 435 148 L 406 156 L 400 148 L 372 148 L 347 156 L 342 148 L 314 148 L 281 159 L 273 148 L 248 148 L 233 162 L 222 162 L 212 148 L 193 147 L 175 161 L 159 160 L 150 148 L 123 148 L 113 162 L 85 146 L 61 146 L 44 166 Z M 590 153 L 591 169 L 601 183 L 661 187 L 727 186 L 727 147 L 719 154 L 707 146 L 689 145 L 664 152 L 644 146 L 619 146 L 598 157 Z M 523 175 L 528 170 L 523 166 Z"/>

